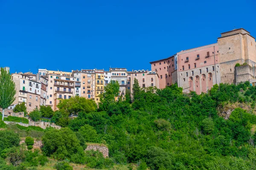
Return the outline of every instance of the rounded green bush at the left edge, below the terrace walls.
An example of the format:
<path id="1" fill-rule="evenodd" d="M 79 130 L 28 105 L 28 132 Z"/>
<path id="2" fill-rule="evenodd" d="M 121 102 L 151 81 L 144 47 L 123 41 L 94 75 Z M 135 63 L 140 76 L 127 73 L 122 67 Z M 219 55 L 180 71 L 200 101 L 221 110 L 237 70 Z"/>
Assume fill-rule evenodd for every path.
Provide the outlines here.
<path id="1" fill-rule="evenodd" d="M 10 130 L 0 130 L 0 152 L 6 148 L 18 146 L 20 137 Z"/>

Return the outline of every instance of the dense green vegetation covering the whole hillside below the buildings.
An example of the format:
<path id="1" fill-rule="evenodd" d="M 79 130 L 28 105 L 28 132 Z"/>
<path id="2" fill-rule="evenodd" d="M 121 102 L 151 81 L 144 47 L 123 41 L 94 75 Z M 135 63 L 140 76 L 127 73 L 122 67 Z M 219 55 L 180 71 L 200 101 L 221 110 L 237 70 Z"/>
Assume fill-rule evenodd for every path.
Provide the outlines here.
<path id="1" fill-rule="evenodd" d="M 54 168 L 59 170 L 118 166 L 138 170 L 256 169 L 256 88 L 249 82 L 214 85 L 201 95 L 183 94 L 177 85 L 159 90 L 141 89 L 136 83 L 133 98 L 127 93 L 125 101 L 115 102 L 116 87 L 111 82 L 97 111 L 93 101 L 86 101 L 87 109 L 67 104 L 75 99 L 62 101 L 65 105 L 60 104 L 61 109 L 51 112 L 51 117 L 63 128 L 38 131 L 42 151 L 19 147 L 19 136 L 13 133 L 23 130 L 26 133 L 18 133 L 20 137 L 31 136 L 34 127 L 3 130 L 0 169 L 44 169 L 52 160 L 58 161 Z M 223 108 L 231 108 L 225 119 Z M 78 117 L 67 119 L 69 114 Z M 4 136 L 9 136 L 8 141 Z M 84 152 L 88 142 L 107 145 L 109 158 L 97 151 Z"/>

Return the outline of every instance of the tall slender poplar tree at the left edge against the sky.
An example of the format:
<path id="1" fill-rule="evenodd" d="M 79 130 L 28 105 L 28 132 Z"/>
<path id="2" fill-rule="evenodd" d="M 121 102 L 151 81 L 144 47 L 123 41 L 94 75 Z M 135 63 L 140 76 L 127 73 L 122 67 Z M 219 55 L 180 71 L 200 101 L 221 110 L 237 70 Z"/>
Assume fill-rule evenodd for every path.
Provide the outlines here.
<path id="1" fill-rule="evenodd" d="M 4 117 L 4 109 L 8 108 L 15 101 L 15 83 L 9 71 L 1 68 L 0 73 L 0 108 L 3 109 L 2 120 Z"/>

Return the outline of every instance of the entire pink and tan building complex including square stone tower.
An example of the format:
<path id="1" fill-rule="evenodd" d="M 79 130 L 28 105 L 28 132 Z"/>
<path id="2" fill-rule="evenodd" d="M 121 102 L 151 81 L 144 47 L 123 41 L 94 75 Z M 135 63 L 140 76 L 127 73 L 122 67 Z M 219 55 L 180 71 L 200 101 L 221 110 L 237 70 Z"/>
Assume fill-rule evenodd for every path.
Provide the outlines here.
<path id="1" fill-rule="evenodd" d="M 221 33 L 215 44 L 180 51 L 150 63 L 160 76 L 160 88 L 177 83 L 185 92 L 200 94 L 221 82 L 250 81 L 256 85 L 255 38 L 243 28 Z M 241 66 L 235 67 L 236 63 Z"/>

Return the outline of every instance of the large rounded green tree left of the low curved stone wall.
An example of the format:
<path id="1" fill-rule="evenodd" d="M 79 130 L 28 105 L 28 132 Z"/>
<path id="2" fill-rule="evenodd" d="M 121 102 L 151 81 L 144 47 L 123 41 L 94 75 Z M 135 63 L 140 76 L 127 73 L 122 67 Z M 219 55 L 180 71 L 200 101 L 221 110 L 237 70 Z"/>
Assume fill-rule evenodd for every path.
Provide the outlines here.
<path id="1" fill-rule="evenodd" d="M 70 158 L 73 154 L 79 154 L 80 156 L 84 154 L 76 134 L 67 127 L 60 130 L 52 128 L 47 130 L 42 142 L 44 144 L 43 152 L 54 159 L 64 160 Z"/>

